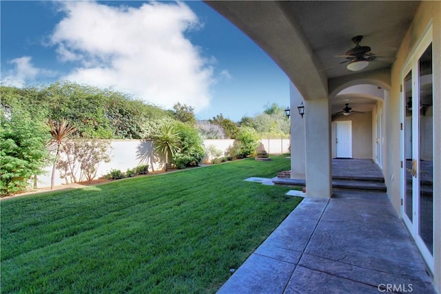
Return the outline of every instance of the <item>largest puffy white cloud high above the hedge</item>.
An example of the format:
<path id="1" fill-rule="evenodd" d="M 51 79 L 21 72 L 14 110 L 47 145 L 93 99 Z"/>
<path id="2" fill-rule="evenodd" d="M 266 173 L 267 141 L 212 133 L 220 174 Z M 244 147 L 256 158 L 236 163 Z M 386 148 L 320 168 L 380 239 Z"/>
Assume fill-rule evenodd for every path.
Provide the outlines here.
<path id="1" fill-rule="evenodd" d="M 209 105 L 213 68 L 185 39 L 201 26 L 184 3 L 144 3 L 140 8 L 96 2 L 61 3 L 66 17 L 51 36 L 61 61 L 79 61 L 65 79 L 134 93 L 145 101 L 195 111 Z"/>

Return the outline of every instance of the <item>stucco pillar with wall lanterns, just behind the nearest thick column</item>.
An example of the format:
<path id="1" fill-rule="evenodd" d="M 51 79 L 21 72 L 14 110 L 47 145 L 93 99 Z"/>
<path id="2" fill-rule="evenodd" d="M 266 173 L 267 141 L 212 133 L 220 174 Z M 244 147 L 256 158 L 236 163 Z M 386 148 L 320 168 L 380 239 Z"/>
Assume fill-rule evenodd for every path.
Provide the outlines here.
<path id="1" fill-rule="evenodd" d="M 305 118 L 298 114 L 298 105 L 303 102 L 303 98 L 294 87 L 289 83 L 289 96 L 291 109 L 291 136 L 289 138 L 291 145 L 291 178 L 305 180 Z"/>

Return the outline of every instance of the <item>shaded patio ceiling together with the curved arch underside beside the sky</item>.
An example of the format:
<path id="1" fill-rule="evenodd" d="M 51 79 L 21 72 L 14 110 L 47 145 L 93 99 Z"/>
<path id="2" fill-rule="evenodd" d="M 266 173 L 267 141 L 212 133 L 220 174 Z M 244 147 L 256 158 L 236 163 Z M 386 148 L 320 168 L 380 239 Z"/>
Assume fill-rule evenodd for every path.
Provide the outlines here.
<path id="1" fill-rule="evenodd" d="M 205 1 L 243 30 L 287 74 L 306 99 L 328 98 L 333 78 L 389 69 L 419 1 Z M 343 55 L 360 45 L 377 58 L 361 72 L 347 70 Z M 356 97 L 354 97 L 356 98 Z M 362 96 L 358 97 L 362 98 Z M 333 97 L 338 109 L 344 103 Z M 360 99 L 358 99 L 360 103 Z M 372 101 L 371 101 L 372 102 Z"/>

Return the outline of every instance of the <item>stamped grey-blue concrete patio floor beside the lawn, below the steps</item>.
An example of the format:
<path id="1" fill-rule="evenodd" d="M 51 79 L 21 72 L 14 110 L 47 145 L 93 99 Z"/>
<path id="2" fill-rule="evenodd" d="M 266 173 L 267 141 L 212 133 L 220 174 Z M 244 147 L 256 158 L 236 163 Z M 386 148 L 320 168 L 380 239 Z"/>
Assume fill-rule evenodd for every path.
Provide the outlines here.
<path id="1" fill-rule="evenodd" d="M 386 193 L 305 198 L 218 293 L 435 293 Z"/>

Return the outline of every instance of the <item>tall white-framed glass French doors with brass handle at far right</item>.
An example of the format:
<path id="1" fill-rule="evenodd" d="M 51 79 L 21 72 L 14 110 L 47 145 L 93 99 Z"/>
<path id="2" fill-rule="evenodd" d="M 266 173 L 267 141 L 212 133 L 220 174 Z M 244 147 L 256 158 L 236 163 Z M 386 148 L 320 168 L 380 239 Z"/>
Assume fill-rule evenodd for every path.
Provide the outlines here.
<path id="1" fill-rule="evenodd" d="M 402 72 L 402 215 L 430 269 L 433 269 L 432 66 L 432 45 L 426 38 Z"/>

